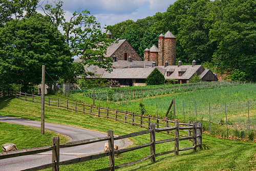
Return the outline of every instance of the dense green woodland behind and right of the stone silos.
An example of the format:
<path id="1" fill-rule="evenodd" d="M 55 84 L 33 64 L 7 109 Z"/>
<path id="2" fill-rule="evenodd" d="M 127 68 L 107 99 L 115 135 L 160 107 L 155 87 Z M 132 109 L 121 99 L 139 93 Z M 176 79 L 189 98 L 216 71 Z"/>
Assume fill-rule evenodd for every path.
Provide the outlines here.
<path id="1" fill-rule="evenodd" d="M 178 0 L 166 12 L 107 28 L 114 38 L 127 39 L 141 56 L 169 30 L 177 37 L 177 61 L 190 65 L 196 60 L 220 73 L 236 70 L 255 81 L 255 9 L 253 0 Z"/>

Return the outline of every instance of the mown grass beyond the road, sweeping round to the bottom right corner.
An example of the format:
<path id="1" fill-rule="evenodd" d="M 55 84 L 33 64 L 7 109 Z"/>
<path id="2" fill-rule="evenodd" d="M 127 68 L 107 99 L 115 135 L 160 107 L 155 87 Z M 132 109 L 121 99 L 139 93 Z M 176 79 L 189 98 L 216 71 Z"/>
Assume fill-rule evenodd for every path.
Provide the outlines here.
<path id="1" fill-rule="evenodd" d="M 17 109 L 19 109 L 17 111 Z M 114 134 L 123 135 L 141 131 L 137 126 L 111 119 L 93 117 L 87 114 L 67 111 L 46 105 L 46 122 L 65 123 L 87 129 L 106 132 L 114 130 Z M 15 116 L 25 119 L 40 120 L 40 104 L 10 97 L 0 98 L 0 115 Z M 157 140 L 170 138 L 166 134 L 157 134 Z M 51 138 L 50 138 L 51 139 Z M 149 135 L 135 137 L 134 145 L 149 142 Z M 180 141 L 180 147 L 191 146 L 190 141 Z M 172 150 L 174 143 L 156 145 L 156 152 Z M 217 139 L 203 135 L 203 149 L 198 152 L 180 152 L 179 156 L 173 154 L 156 158 L 156 163 L 150 160 L 119 170 L 253 170 L 255 167 L 256 144 L 250 142 Z M 142 148 L 133 152 L 120 154 L 115 163 L 121 164 L 138 160 L 150 155 L 150 148 Z M 61 170 L 96 170 L 108 167 L 109 158 L 93 160 L 78 164 L 61 166 Z M 49 169 L 50 170 L 50 169 Z"/>

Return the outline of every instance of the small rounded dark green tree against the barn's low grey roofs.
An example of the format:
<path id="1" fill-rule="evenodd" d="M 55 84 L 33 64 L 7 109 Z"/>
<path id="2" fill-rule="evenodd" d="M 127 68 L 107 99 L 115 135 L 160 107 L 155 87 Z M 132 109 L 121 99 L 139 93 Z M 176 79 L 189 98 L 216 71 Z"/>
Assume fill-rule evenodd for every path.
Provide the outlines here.
<path id="1" fill-rule="evenodd" d="M 156 85 L 156 84 L 164 84 L 164 75 L 155 68 L 150 75 L 146 78 L 147 86 Z"/>

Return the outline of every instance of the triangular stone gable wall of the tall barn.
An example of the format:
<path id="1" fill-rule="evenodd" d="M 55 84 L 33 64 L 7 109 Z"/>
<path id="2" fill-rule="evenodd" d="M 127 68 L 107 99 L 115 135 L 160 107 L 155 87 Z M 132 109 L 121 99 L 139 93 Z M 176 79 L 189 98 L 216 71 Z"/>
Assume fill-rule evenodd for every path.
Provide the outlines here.
<path id="1" fill-rule="evenodd" d="M 127 40 L 123 42 L 123 44 L 116 50 L 115 53 L 113 53 L 113 55 L 115 55 L 117 60 L 124 60 L 124 53 L 127 53 L 127 60 L 129 56 L 132 57 L 132 60 L 142 60 L 142 58 L 139 56 L 139 54 L 134 50 L 134 48 L 129 44 Z"/>

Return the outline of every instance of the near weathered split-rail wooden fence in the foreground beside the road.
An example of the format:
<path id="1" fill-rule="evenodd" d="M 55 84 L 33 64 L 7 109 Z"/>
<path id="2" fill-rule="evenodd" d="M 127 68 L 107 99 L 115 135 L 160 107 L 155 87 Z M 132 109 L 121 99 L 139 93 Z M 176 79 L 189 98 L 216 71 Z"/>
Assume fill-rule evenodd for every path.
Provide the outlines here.
<path id="1" fill-rule="evenodd" d="M 79 140 L 79 141 L 67 142 L 67 143 L 63 143 L 63 144 L 59 144 L 59 137 L 53 137 L 52 146 L 29 148 L 29 149 L 22 149 L 22 150 L 18 150 L 18 151 L 0 153 L 0 159 L 12 158 L 12 157 L 17 157 L 17 156 L 27 156 L 27 155 L 52 151 L 52 163 L 41 165 L 41 166 L 36 166 L 36 167 L 25 169 L 25 170 L 33 171 L 33 170 L 40 170 L 40 169 L 52 167 L 52 170 L 57 171 L 57 170 L 59 170 L 60 165 L 74 164 L 74 163 L 95 160 L 95 159 L 109 156 L 110 166 L 106 167 L 106 168 L 99 169 L 101 171 L 103 171 L 103 170 L 108 171 L 108 170 L 115 170 L 118 168 L 126 167 L 126 166 L 129 166 L 132 164 L 136 164 L 136 163 L 139 163 L 139 162 L 147 160 L 147 159 L 151 159 L 151 162 L 155 162 L 156 157 L 170 154 L 170 153 L 174 153 L 174 155 L 179 155 L 179 152 L 181 152 L 181 151 L 186 151 L 189 149 L 193 149 L 193 151 L 196 151 L 197 148 L 201 149 L 202 148 L 202 123 L 201 122 L 193 122 L 193 125 L 188 125 L 188 126 L 179 126 L 179 125 L 180 124 L 179 124 L 178 120 L 176 120 L 175 126 L 172 126 L 172 127 L 156 128 L 155 123 L 152 123 L 150 125 L 149 130 L 126 134 L 126 135 L 122 135 L 122 136 L 118 136 L 118 137 L 114 137 L 113 130 L 109 130 L 108 136 L 106 136 L 106 137 Z M 180 138 L 180 136 L 181 136 L 179 133 L 180 130 L 192 130 L 191 132 L 193 132 L 193 135 Z M 175 131 L 175 137 L 169 138 L 169 139 L 164 139 L 164 140 L 156 140 L 155 134 L 158 132 L 164 132 L 164 131 L 167 131 L 167 132 Z M 147 142 L 147 143 L 144 143 L 144 144 L 141 144 L 138 146 L 119 149 L 117 151 L 114 151 L 114 141 L 115 140 L 140 136 L 140 135 L 144 135 L 144 134 L 150 134 L 150 142 Z M 179 141 L 189 140 L 189 139 L 193 140 L 193 146 L 179 148 Z M 110 149 L 109 152 L 86 156 L 86 157 L 75 158 L 75 159 L 71 159 L 71 160 L 67 160 L 67 161 L 61 161 L 61 162 L 59 161 L 59 158 L 60 158 L 59 149 L 60 148 L 72 147 L 72 146 L 78 146 L 78 145 L 84 145 L 84 144 L 91 144 L 91 143 L 106 141 L 106 140 L 108 140 L 108 142 L 109 142 L 109 149 Z M 171 151 L 156 153 L 155 146 L 157 144 L 166 143 L 166 142 L 174 142 L 174 149 Z M 147 147 L 147 146 L 150 146 L 150 154 L 151 155 L 145 156 L 142 159 L 139 159 L 137 161 L 131 161 L 131 162 L 115 165 L 115 155 L 134 151 L 136 149 L 140 149 L 140 148 Z"/>

